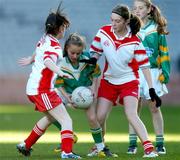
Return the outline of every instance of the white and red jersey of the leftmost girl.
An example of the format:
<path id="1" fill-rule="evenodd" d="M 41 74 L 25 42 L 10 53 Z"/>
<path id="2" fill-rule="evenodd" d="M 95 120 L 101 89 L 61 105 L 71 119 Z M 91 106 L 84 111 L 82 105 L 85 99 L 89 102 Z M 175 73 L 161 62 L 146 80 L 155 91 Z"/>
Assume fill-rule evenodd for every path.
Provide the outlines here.
<path id="1" fill-rule="evenodd" d="M 51 59 L 57 64 L 63 57 L 58 40 L 49 35 L 43 36 L 38 42 L 35 54 L 32 72 L 26 86 L 27 95 L 37 95 L 54 90 L 54 81 L 57 75 L 44 65 L 44 61 Z"/>

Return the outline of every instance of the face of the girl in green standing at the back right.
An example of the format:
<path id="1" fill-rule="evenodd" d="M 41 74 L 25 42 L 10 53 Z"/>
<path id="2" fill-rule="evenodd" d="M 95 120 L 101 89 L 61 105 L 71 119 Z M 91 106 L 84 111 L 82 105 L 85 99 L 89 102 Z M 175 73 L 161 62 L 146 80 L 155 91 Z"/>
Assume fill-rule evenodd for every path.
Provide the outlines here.
<path id="1" fill-rule="evenodd" d="M 132 12 L 138 16 L 141 20 L 144 20 L 148 17 L 150 9 L 147 8 L 145 2 L 134 1 Z"/>

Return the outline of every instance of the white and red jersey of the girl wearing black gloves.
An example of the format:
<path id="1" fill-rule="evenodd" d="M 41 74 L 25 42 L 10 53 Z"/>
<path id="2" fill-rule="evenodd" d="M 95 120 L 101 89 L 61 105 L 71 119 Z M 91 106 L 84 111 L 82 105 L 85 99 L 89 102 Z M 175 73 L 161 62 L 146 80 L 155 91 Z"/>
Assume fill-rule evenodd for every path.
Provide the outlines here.
<path id="1" fill-rule="evenodd" d="M 148 66 L 148 57 L 137 36 L 130 29 L 125 37 L 117 38 L 112 27 L 102 27 L 91 45 L 91 52 L 104 54 L 103 77 L 112 84 L 124 84 L 138 79 L 139 66 Z"/>

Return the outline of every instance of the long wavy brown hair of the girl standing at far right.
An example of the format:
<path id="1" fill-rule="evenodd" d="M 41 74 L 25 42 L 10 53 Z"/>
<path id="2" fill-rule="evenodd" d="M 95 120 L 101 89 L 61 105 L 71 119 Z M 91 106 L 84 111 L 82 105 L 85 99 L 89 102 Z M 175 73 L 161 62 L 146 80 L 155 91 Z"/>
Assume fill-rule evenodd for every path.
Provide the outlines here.
<path id="1" fill-rule="evenodd" d="M 151 2 L 151 0 L 135 0 L 145 3 L 146 7 L 150 8 L 149 18 L 154 20 L 157 23 L 157 31 L 160 34 L 168 34 L 169 32 L 166 30 L 167 20 L 162 15 L 159 7 Z"/>

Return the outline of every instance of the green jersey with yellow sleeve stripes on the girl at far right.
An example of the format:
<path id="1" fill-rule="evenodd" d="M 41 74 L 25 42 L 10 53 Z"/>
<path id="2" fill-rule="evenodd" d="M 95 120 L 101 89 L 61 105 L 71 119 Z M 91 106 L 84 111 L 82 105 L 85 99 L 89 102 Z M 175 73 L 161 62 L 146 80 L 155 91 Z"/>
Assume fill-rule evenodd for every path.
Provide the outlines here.
<path id="1" fill-rule="evenodd" d="M 170 58 L 165 35 L 159 34 L 157 32 L 157 24 L 149 20 L 141 28 L 138 36 L 146 49 L 151 68 L 161 68 L 167 83 L 170 74 Z"/>

